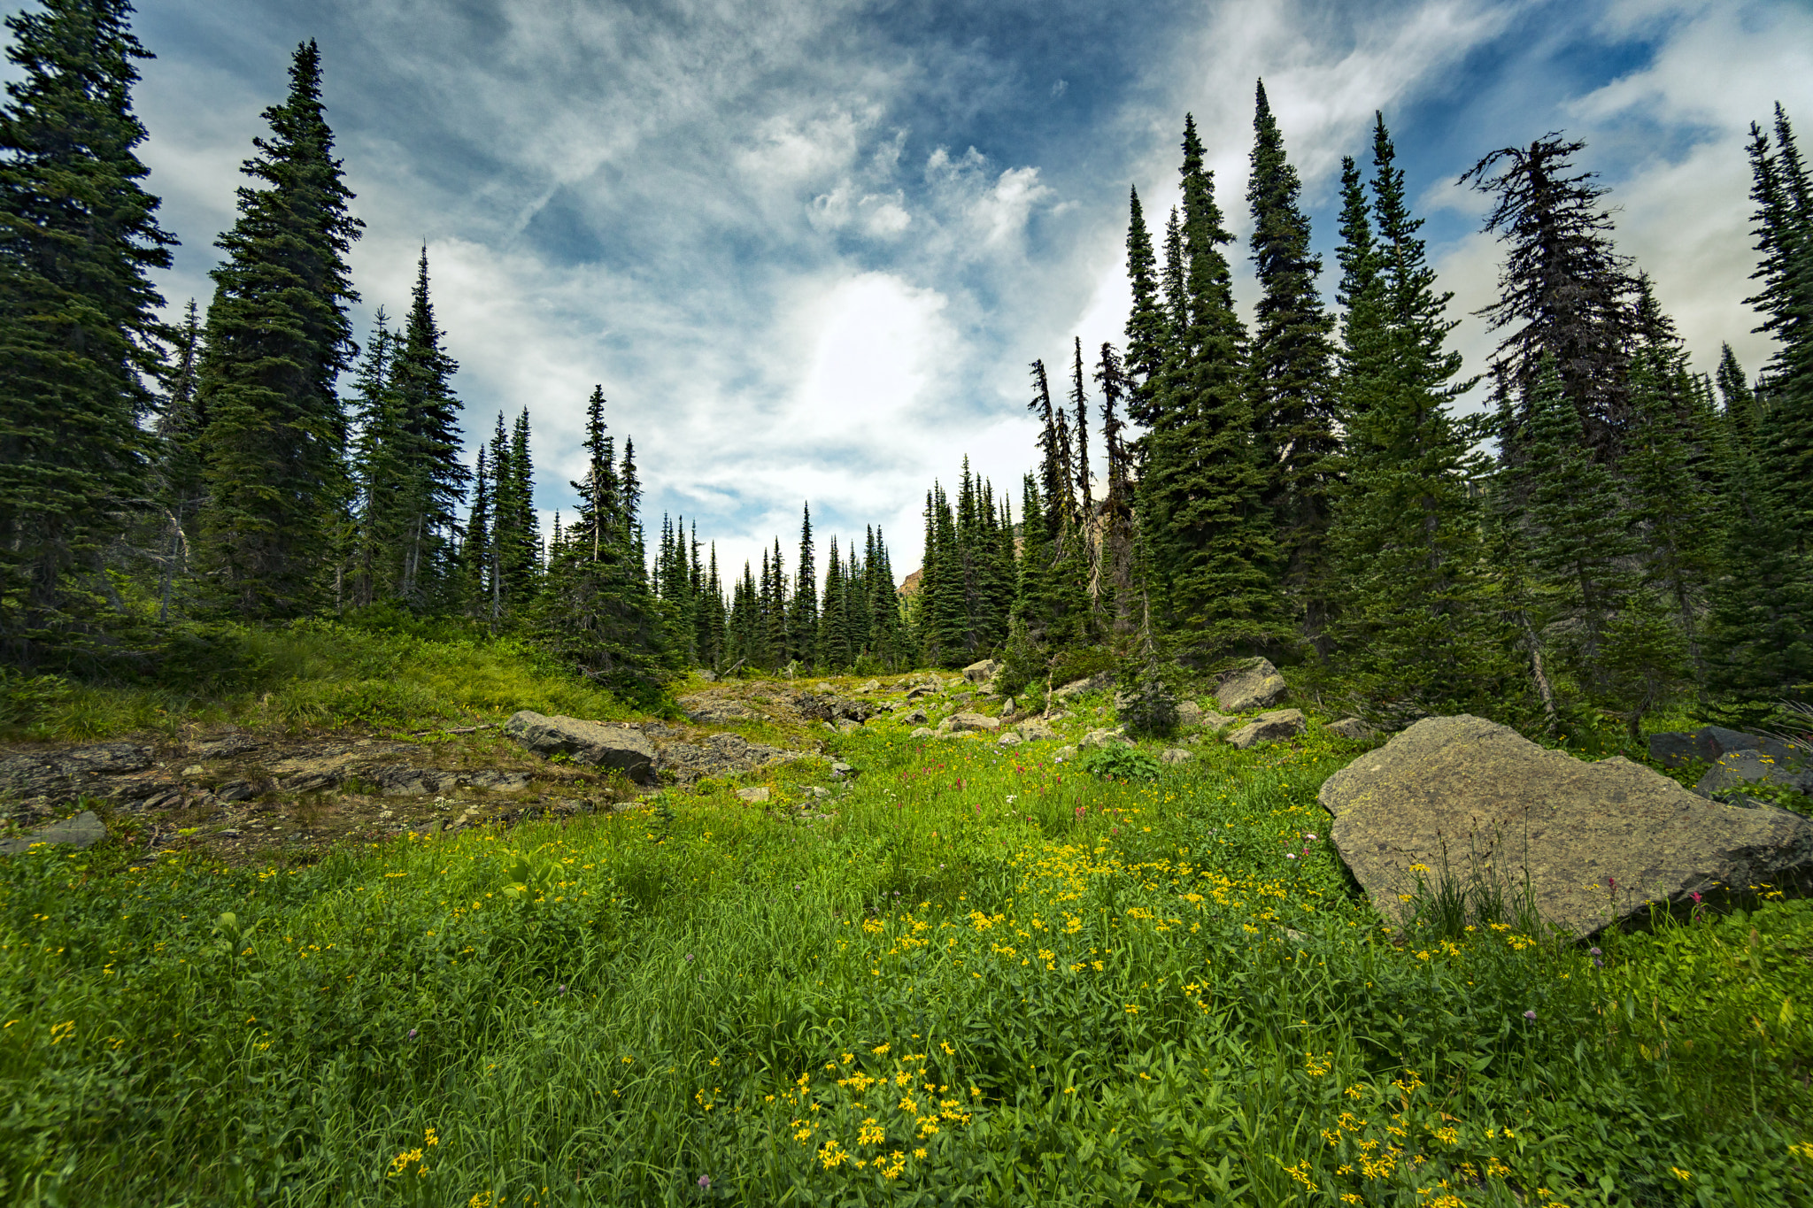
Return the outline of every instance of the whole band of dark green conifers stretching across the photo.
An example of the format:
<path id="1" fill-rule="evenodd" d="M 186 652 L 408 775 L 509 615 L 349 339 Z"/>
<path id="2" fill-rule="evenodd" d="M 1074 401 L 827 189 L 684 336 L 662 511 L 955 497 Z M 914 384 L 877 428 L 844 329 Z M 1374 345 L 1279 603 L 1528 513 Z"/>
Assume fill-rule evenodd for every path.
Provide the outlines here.
<path id="1" fill-rule="evenodd" d="M 1178 668 L 1251 654 L 1378 714 L 1550 730 L 1619 717 L 1635 733 L 1682 699 L 1755 719 L 1813 692 L 1813 183 L 1780 109 L 1751 127 L 1755 293 L 1731 299 L 1775 340 L 1755 377 L 1730 348 L 1711 375 L 1690 364 L 1563 134 L 1459 181 L 1487 194 L 1503 248 L 1481 377 L 1449 348 L 1458 319 L 1383 116 L 1343 161 L 1323 299 L 1264 87 L 1246 321 L 1186 118 L 1180 206 L 1148 226 L 1131 196 L 1124 342 L 1032 366 L 1035 471 L 997 493 L 965 462 L 955 498 L 934 487 L 923 572 L 901 592 L 879 529 L 821 552 L 809 511 L 796 551 L 776 540 L 740 574 L 684 520 L 664 516 L 649 549 L 635 446 L 607 427 L 602 388 L 578 505 L 544 534 L 528 411 L 499 415 L 468 462 L 426 248 L 402 317 L 379 308 L 355 342 L 361 223 L 312 42 L 243 167 L 214 297 L 165 321 L 152 272 L 176 239 L 138 159 L 129 18 L 123 0 L 7 18 L 15 679 L 156 677 L 219 627 L 410 616 L 528 636 L 624 690 L 685 666 L 995 656 L 1010 690 L 1037 692 L 1057 668 L 1115 666 L 1157 728 Z M 1476 389 L 1483 409 L 1463 400 Z"/>

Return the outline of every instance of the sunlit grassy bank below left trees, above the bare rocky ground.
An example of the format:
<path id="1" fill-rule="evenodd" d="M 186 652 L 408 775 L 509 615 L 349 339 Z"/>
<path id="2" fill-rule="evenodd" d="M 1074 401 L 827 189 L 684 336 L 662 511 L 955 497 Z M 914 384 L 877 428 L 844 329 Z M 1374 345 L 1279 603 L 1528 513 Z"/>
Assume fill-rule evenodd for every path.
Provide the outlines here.
<path id="1" fill-rule="evenodd" d="M 214 627 L 167 643 L 141 676 L 78 681 L 0 670 L 0 737 L 87 743 L 223 724 L 406 730 L 500 721 L 519 708 L 635 715 L 517 638 L 381 621 Z"/>

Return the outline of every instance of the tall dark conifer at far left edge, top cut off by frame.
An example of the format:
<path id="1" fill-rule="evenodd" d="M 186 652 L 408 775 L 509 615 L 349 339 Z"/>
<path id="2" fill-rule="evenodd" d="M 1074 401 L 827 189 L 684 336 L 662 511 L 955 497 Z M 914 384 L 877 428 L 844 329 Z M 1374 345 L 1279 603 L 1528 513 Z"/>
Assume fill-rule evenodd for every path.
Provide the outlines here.
<path id="1" fill-rule="evenodd" d="M 140 187 L 145 127 L 125 0 L 5 18 L 20 78 L 0 110 L 0 656 L 31 665 L 96 632 L 102 554 L 145 494 L 152 268 L 176 243 Z"/>

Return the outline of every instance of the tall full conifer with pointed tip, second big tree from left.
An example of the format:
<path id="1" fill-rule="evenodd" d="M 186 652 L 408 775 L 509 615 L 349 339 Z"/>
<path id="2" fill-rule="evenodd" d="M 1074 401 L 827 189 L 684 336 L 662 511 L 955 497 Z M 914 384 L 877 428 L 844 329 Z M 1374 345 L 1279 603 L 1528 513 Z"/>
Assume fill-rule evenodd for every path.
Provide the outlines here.
<path id="1" fill-rule="evenodd" d="M 245 618 L 297 616 L 321 599 L 343 480 L 344 413 L 334 382 L 357 348 L 346 254 L 363 223 L 334 158 L 321 54 L 296 51 L 290 94 L 265 110 L 270 139 L 241 170 L 239 219 L 210 273 L 201 406 L 208 411 L 203 531 L 223 603 Z"/>

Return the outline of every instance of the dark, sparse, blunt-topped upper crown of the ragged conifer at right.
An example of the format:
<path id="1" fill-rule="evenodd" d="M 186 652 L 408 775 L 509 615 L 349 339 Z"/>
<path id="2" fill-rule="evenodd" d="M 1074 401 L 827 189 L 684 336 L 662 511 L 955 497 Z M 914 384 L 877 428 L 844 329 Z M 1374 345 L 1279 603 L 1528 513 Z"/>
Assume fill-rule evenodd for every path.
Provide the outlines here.
<path id="1" fill-rule="evenodd" d="M 1485 219 L 1510 244 L 1499 301 L 1479 315 L 1494 331 L 1514 328 L 1498 348 L 1528 397 L 1543 355 L 1581 415 L 1599 460 L 1615 462 L 1630 422 L 1630 261 L 1612 244 L 1612 217 L 1599 205 L 1595 174 L 1575 172 L 1585 143 L 1546 134 L 1505 147 L 1461 174 L 1459 183 L 1494 196 Z"/>

